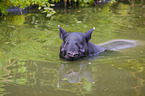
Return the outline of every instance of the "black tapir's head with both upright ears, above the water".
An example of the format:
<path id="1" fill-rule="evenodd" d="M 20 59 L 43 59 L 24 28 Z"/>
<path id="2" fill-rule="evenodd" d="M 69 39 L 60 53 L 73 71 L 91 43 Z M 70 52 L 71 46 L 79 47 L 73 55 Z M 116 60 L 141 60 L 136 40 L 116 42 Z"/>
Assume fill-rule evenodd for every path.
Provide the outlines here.
<path id="1" fill-rule="evenodd" d="M 60 47 L 60 58 L 73 61 L 89 55 L 88 42 L 91 39 L 91 34 L 95 28 L 90 29 L 86 33 L 68 33 L 59 25 L 58 27 L 59 36 L 63 40 Z"/>

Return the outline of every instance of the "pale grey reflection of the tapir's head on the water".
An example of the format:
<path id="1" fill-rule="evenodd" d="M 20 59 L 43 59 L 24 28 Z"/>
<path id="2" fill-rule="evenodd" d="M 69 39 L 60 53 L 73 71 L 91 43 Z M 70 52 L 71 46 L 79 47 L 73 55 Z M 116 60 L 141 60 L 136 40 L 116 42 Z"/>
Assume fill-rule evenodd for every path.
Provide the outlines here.
<path id="1" fill-rule="evenodd" d="M 69 83 L 81 82 L 82 77 L 93 82 L 91 64 L 62 64 L 59 70 L 59 84 L 68 81 Z"/>

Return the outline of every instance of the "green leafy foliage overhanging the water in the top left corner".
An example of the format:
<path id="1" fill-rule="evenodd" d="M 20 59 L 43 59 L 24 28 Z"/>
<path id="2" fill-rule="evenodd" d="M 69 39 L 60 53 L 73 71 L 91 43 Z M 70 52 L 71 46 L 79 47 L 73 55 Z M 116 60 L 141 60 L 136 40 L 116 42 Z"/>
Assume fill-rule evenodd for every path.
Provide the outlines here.
<path id="1" fill-rule="evenodd" d="M 43 12 L 47 14 L 47 17 L 56 13 L 52 8 L 50 8 L 48 0 L 2 0 L 0 2 L 0 12 L 7 14 L 8 7 L 15 6 L 20 7 L 20 9 L 24 9 L 25 7 L 29 7 L 34 4 L 38 5 L 38 9 L 42 9 Z"/>

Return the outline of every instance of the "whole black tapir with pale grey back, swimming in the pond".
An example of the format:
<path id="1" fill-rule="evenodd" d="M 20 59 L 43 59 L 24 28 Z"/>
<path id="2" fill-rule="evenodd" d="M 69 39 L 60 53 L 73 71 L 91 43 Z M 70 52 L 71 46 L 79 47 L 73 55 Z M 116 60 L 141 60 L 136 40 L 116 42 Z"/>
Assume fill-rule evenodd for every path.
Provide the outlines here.
<path id="1" fill-rule="evenodd" d="M 59 36 L 63 40 L 60 47 L 60 58 L 66 60 L 77 60 L 87 56 L 99 55 L 106 50 L 117 51 L 120 49 L 131 48 L 136 46 L 134 40 L 114 40 L 97 46 L 91 43 L 91 34 L 95 28 L 86 33 L 71 32 L 67 33 L 59 25 Z"/>

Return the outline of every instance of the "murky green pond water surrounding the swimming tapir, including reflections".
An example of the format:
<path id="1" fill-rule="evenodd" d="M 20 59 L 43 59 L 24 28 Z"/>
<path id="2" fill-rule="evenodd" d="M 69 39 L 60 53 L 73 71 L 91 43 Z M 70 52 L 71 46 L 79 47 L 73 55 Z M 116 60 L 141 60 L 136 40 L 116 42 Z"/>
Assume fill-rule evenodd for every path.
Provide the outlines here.
<path id="1" fill-rule="evenodd" d="M 145 4 L 29 12 L 0 21 L 0 96 L 145 96 Z M 59 59 L 58 25 L 95 27 L 91 42 L 137 40 L 136 47 L 92 59 Z"/>

